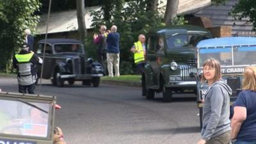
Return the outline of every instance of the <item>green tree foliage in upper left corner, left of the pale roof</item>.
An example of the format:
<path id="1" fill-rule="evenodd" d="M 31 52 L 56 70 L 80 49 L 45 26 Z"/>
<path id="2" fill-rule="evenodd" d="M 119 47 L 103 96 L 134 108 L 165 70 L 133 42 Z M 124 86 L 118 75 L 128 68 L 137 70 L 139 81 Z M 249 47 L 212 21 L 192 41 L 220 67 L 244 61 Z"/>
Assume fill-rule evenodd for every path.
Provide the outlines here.
<path id="1" fill-rule="evenodd" d="M 39 17 L 33 15 L 40 7 L 38 0 L 0 1 L 0 70 L 10 70 L 10 60 L 24 42 L 24 29 L 35 31 Z"/>

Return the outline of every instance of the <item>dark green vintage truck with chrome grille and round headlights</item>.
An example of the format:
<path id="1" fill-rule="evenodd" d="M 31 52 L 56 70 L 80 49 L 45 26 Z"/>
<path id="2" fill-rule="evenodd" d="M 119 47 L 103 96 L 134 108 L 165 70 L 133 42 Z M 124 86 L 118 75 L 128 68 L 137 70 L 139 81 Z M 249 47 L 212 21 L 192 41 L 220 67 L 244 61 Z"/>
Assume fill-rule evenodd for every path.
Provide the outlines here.
<path id="1" fill-rule="evenodd" d="M 195 45 L 211 37 L 207 29 L 198 26 L 152 29 L 147 34 L 142 95 L 154 99 L 156 92 L 163 92 L 163 100 L 170 102 L 172 93 L 196 93 Z"/>

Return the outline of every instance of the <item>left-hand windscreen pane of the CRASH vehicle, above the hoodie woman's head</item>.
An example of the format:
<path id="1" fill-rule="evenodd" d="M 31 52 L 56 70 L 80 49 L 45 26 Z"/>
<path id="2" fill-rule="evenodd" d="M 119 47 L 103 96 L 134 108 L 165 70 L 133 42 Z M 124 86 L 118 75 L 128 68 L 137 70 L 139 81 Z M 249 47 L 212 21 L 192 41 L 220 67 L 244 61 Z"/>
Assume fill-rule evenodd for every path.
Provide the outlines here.
<path id="1" fill-rule="evenodd" d="M 214 58 L 220 61 L 221 65 L 232 65 L 232 47 L 203 47 L 199 49 L 199 67 L 203 67 L 204 61 Z"/>

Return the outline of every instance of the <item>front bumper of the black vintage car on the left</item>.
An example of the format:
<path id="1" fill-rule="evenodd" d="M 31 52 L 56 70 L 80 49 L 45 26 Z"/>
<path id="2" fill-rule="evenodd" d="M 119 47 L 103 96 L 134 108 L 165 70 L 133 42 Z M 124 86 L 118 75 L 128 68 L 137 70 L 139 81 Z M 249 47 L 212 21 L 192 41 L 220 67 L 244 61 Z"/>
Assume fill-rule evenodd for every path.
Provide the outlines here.
<path id="1" fill-rule="evenodd" d="M 61 75 L 61 79 L 75 79 L 75 80 L 83 80 L 83 79 L 92 79 L 92 77 L 102 77 L 103 74 L 64 74 Z"/>

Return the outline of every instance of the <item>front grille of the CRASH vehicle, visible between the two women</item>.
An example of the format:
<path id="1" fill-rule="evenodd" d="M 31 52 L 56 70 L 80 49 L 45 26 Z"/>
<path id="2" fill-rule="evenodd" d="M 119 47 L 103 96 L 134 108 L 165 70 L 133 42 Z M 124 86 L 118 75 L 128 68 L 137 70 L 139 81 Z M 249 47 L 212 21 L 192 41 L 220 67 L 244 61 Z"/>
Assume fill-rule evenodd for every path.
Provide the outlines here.
<path id="1" fill-rule="evenodd" d="M 223 76 L 227 80 L 228 86 L 232 89 L 232 98 L 236 98 L 241 90 L 241 78 L 239 76 Z"/>

